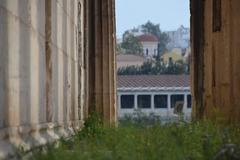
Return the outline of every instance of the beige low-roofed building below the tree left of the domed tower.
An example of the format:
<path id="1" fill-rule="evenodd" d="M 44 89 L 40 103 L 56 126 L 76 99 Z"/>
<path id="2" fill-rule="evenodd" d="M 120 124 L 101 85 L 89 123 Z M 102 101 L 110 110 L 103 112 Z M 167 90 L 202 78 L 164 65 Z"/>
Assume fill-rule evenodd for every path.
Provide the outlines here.
<path id="1" fill-rule="evenodd" d="M 117 68 L 127 66 L 141 66 L 144 63 L 144 57 L 132 54 L 118 54 L 117 55 Z"/>

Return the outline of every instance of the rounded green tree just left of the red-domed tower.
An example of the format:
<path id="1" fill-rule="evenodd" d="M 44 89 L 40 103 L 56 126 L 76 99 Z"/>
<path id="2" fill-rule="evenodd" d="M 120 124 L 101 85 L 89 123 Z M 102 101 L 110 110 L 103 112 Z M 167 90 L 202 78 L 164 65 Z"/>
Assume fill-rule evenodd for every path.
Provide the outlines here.
<path id="1" fill-rule="evenodd" d="M 125 53 L 129 54 L 143 54 L 143 46 L 139 42 L 138 38 L 129 32 L 123 34 L 123 42 L 121 44 Z"/>

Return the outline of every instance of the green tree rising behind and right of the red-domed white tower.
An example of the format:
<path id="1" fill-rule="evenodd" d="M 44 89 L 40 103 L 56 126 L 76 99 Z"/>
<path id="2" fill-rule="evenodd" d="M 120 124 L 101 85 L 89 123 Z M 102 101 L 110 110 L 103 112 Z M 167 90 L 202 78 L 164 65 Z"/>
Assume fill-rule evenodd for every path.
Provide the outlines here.
<path id="1" fill-rule="evenodd" d="M 169 37 L 165 32 L 162 32 L 159 24 L 154 24 L 150 21 L 142 25 L 143 31 L 145 33 L 150 33 L 155 35 L 159 39 L 158 53 L 162 54 L 167 50 L 167 44 L 169 42 Z"/>

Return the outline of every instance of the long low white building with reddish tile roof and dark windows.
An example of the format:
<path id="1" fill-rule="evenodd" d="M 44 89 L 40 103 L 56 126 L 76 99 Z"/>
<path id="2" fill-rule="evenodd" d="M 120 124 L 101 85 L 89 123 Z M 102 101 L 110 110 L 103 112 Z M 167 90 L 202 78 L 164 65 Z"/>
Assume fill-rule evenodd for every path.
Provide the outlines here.
<path id="1" fill-rule="evenodd" d="M 118 76 L 118 117 L 138 109 L 162 118 L 176 117 L 174 108 L 183 104 L 184 117 L 191 117 L 190 77 L 188 75 Z"/>

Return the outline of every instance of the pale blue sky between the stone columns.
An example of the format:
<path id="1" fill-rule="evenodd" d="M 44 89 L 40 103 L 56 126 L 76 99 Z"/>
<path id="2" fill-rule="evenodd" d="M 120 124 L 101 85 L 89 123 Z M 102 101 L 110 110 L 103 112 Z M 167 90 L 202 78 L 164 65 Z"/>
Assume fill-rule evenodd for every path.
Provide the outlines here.
<path id="1" fill-rule="evenodd" d="M 189 0 L 116 0 L 117 36 L 151 21 L 162 31 L 190 27 Z"/>

